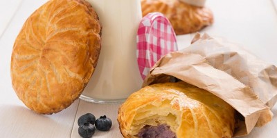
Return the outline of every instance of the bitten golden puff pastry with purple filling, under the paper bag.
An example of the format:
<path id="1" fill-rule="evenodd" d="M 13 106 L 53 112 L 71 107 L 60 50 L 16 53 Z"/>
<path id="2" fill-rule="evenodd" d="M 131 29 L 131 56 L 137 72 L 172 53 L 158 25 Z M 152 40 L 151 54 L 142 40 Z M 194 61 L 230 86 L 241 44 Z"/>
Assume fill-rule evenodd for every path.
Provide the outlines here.
<path id="1" fill-rule="evenodd" d="M 128 97 L 118 123 L 125 138 L 232 137 L 235 110 L 188 83 L 157 83 Z"/>

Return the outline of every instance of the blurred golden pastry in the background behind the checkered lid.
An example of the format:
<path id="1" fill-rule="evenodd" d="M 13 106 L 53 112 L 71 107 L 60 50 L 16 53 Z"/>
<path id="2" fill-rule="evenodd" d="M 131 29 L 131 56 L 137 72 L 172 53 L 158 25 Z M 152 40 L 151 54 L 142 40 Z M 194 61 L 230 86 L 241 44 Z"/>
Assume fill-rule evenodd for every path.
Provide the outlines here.
<path id="1" fill-rule="evenodd" d="M 213 13 L 208 8 L 189 5 L 179 0 L 141 0 L 143 16 L 150 12 L 163 13 L 176 34 L 197 32 L 213 23 Z"/>

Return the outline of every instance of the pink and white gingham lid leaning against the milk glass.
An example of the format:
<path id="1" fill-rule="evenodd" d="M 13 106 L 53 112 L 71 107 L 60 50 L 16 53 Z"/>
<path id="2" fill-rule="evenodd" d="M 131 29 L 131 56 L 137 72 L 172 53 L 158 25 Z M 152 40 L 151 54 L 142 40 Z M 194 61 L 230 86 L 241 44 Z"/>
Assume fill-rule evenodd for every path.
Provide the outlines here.
<path id="1" fill-rule="evenodd" d="M 163 55 L 177 50 L 176 34 L 168 19 L 159 12 L 143 17 L 136 43 L 136 57 L 143 79 Z"/>

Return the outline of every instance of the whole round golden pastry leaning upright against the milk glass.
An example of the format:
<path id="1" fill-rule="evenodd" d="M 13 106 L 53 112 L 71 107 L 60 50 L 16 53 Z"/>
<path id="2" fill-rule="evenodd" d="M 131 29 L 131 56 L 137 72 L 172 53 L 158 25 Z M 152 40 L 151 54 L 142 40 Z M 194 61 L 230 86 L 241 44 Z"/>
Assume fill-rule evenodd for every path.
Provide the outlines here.
<path id="1" fill-rule="evenodd" d="M 42 114 L 70 106 L 96 68 L 100 30 L 84 0 L 51 0 L 31 14 L 12 50 L 12 86 L 19 99 Z"/>

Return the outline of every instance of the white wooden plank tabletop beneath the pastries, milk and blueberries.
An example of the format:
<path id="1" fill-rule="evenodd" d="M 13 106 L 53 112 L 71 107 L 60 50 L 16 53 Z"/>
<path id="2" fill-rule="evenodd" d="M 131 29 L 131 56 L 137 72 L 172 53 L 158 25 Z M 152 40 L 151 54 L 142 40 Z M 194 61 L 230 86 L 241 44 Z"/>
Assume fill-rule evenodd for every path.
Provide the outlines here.
<path id="1" fill-rule="evenodd" d="M 37 115 L 17 98 L 10 79 L 12 46 L 26 18 L 46 0 L 0 0 L 0 137 L 80 137 L 78 117 L 92 112 L 113 121 L 109 132 L 93 137 L 122 137 L 116 121 L 119 104 L 87 103 L 76 100 L 55 115 Z M 202 32 L 241 43 L 265 61 L 277 65 L 277 0 L 208 0 L 215 23 Z M 189 45 L 193 34 L 178 37 L 179 49 Z M 265 127 L 254 128 L 247 137 L 277 137 L 277 106 L 274 119 Z"/>

